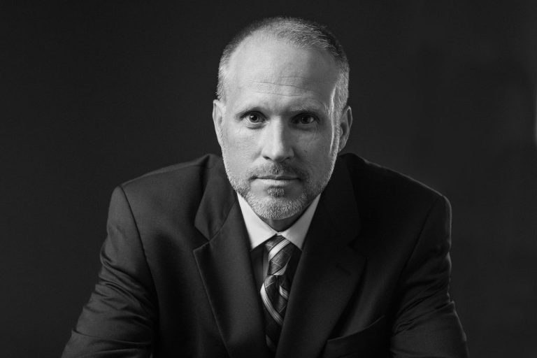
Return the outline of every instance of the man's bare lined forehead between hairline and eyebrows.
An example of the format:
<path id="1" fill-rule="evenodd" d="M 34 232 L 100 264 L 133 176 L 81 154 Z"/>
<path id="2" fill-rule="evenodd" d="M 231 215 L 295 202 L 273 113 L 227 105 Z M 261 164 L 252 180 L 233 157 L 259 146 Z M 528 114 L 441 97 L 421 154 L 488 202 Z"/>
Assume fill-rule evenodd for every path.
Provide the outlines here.
<path id="1" fill-rule="evenodd" d="M 248 93 L 324 104 L 334 96 L 338 69 L 324 50 L 297 48 L 273 38 L 247 38 L 229 61 L 230 99 Z"/>

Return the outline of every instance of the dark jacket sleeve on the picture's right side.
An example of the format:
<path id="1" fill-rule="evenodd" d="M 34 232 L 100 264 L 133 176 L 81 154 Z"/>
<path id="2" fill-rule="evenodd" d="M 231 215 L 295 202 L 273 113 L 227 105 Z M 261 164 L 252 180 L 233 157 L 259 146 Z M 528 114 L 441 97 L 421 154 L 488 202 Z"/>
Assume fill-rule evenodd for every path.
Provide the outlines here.
<path id="1" fill-rule="evenodd" d="M 451 208 L 439 196 L 401 273 L 392 357 L 468 357 L 466 336 L 448 294 Z"/>

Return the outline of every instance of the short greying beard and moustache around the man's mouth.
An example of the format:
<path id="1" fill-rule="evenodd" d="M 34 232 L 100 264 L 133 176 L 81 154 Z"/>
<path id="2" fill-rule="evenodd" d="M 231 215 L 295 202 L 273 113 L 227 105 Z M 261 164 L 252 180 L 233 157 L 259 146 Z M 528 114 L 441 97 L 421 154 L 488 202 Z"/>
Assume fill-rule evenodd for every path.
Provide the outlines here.
<path id="1" fill-rule="evenodd" d="M 222 141 L 222 159 L 224 160 L 224 167 L 231 187 L 245 199 L 257 216 L 268 220 L 283 220 L 303 212 L 327 186 L 332 171 L 334 171 L 337 152 L 337 150 L 334 150 L 334 152 L 329 153 L 329 170 L 322 173 L 321 176 L 317 176 L 317 178 L 307 170 L 285 162 L 267 162 L 250 168 L 248 171 L 234 173 L 229 162 L 231 154 L 228 155 L 227 145 L 225 141 Z M 301 181 L 303 190 L 296 199 L 287 197 L 285 187 L 268 187 L 266 194 L 261 196 L 252 192 L 252 180 L 266 175 L 298 178 Z"/>

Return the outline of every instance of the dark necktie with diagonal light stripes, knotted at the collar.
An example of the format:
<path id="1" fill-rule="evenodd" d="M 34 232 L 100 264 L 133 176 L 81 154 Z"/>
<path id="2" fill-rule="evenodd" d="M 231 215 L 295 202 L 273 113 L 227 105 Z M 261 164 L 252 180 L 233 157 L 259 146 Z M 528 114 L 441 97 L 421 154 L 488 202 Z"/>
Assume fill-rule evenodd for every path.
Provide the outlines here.
<path id="1" fill-rule="evenodd" d="M 261 287 L 261 298 L 266 317 L 266 344 L 275 352 L 289 299 L 290 285 L 285 270 L 294 245 L 283 236 L 276 235 L 266 241 L 265 248 L 268 252 L 268 271 Z"/>

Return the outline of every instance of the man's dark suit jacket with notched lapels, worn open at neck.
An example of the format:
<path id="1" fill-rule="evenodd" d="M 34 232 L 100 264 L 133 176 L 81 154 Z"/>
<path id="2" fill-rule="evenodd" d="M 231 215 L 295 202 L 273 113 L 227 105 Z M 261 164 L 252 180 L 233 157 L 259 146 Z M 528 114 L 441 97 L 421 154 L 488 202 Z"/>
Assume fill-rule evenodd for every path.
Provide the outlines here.
<path id="1" fill-rule="evenodd" d="M 450 206 L 338 158 L 296 268 L 276 357 L 466 357 L 447 294 Z M 209 155 L 115 189 L 99 282 L 63 357 L 268 357 L 241 209 Z"/>

